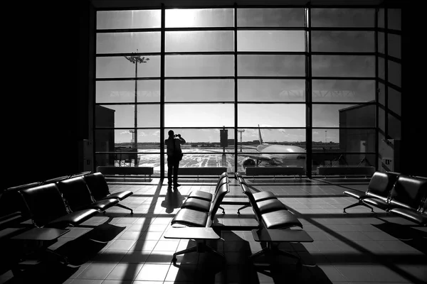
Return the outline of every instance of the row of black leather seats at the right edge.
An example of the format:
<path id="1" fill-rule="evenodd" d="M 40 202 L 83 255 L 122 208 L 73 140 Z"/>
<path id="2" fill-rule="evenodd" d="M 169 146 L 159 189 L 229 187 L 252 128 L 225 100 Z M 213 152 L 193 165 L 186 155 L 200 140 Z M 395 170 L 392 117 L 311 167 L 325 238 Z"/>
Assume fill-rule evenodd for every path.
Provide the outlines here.
<path id="1" fill-rule="evenodd" d="M 366 192 L 346 190 L 344 195 L 357 199 L 356 203 L 345 207 L 344 212 L 358 205 L 372 212 L 376 207 L 421 226 L 427 225 L 427 178 L 375 172 Z"/>

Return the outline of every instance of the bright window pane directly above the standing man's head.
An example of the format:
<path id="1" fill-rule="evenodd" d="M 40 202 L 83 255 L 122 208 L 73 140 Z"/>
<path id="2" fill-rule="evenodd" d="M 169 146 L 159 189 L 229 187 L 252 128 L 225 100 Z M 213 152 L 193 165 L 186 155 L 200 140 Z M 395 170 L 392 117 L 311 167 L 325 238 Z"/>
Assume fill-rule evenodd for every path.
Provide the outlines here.
<path id="1" fill-rule="evenodd" d="M 164 126 L 174 127 L 232 127 L 233 104 L 165 104 Z"/>

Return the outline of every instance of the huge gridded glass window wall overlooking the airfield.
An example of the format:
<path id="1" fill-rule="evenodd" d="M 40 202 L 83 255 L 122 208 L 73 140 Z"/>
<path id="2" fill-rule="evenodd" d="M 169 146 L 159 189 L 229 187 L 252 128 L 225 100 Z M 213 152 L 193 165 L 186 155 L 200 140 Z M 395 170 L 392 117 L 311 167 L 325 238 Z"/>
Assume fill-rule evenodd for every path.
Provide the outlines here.
<path id="1" fill-rule="evenodd" d="M 169 129 L 184 168 L 374 165 L 375 131 L 401 131 L 401 11 L 375 13 L 177 6 L 162 29 L 161 9 L 97 11 L 95 165 L 164 175 Z"/>

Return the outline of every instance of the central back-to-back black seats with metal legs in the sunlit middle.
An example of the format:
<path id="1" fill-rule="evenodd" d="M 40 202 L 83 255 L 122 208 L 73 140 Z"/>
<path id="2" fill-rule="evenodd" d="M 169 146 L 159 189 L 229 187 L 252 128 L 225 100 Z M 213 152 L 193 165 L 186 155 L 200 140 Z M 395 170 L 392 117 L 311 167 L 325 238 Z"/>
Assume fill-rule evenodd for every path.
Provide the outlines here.
<path id="1" fill-rule="evenodd" d="M 295 217 L 294 214 L 292 214 L 292 212 L 288 210 L 288 207 L 286 207 L 285 204 L 278 200 L 278 198 L 273 194 L 273 192 L 252 193 L 249 189 L 248 184 L 246 183 L 246 180 L 244 180 L 244 178 L 238 173 L 236 173 L 236 180 L 238 180 L 243 194 L 248 197 L 250 204 L 244 205 L 239 209 L 239 211 L 244 207 L 252 207 L 253 212 L 255 214 L 255 219 L 258 221 L 259 224 L 255 234 L 258 234 L 258 232 L 263 230 L 290 231 L 293 228 L 300 229 L 292 231 L 302 231 L 301 222 L 297 219 L 297 217 Z M 229 178 L 227 173 L 224 172 L 222 175 L 220 175 L 220 178 L 218 179 L 214 193 L 204 192 L 201 190 L 195 190 L 189 193 L 189 196 L 181 205 L 181 209 L 179 209 L 179 211 L 172 219 L 172 226 L 179 225 L 186 227 L 213 228 L 214 230 L 222 228 L 222 226 L 215 226 L 217 223 L 215 220 L 215 216 L 223 200 L 223 197 L 229 191 Z M 245 230 L 246 228 L 241 229 Z M 202 230 L 201 232 L 204 231 Z M 306 234 L 305 231 L 303 231 L 303 233 Z M 210 251 L 212 253 L 215 253 L 216 255 L 222 256 L 221 253 L 218 253 L 218 251 L 206 245 L 206 239 L 203 239 L 202 234 L 198 236 L 196 235 L 197 233 L 195 233 L 192 239 L 196 240 L 198 244 L 196 244 L 196 246 L 192 246 L 189 249 L 184 249 L 182 251 L 174 253 L 174 256 L 172 258 L 172 261 L 174 261 L 174 263 L 176 262 L 177 255 L 193 251 Z M 179 236 L 176 236 L 176 238 L 178 237 Z M 186 237 L 186 239 L 188 239 L 188 237 Z M 307 236 L 307 234 L 305 239 L 310 239 L 310 241 L 312 241 L 310 236 Z M 298 256 L 278 249 L 277 241 L 281 242 L 287 240 L 262 239 L 261 241 L 266 243 L 265 248 L 262 251 L 253 253 L 251 256 L 249 256 L 250 259 L 253 259 L 263 254 L 280 254 L 290 256 L 292 258 L 297 258 L 297 267 L 301 267 L 300 258 Z M 298 239 L 292 239 L 292 242 L 298 241 Z"/>

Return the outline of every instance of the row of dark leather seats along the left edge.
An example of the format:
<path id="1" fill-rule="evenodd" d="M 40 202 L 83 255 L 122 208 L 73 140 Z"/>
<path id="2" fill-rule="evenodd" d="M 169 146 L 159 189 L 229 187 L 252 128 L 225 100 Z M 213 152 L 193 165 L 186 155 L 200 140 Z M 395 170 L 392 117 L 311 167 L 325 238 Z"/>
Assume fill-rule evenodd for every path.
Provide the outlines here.
<path id="1" fill-rule="evenodd" d="M 67 229 L 79 226 L 100 212 L 105 213 L 105 210 L 112 206 L 129 209 L 132 213 L 132 209 L 119 202 L 133 192 L 111 194 L 102 173 L 60 177 L 49 182 L 9 188 L 4 193 L 6 195 L 1 196 L 3 202 L 16 202 L 21 199 L 15 203 L 19 211 L 0 218 L 2 268 L 11 269 L 14 273 L 19 272 L 19 263 L 27 256 L 20 253 L 16 241 L 11 241 L 14 236 L 35 228 Z M 43 250 L 38 249 L 38 252 L 56 254 L 48 249 L 50 245 L 46 244 Z M 66 258 L 61 258 L 60 261 L 69 264 Z"/>

